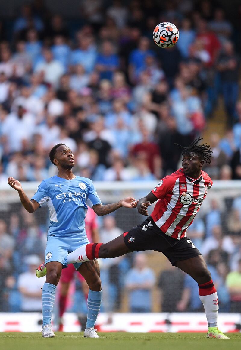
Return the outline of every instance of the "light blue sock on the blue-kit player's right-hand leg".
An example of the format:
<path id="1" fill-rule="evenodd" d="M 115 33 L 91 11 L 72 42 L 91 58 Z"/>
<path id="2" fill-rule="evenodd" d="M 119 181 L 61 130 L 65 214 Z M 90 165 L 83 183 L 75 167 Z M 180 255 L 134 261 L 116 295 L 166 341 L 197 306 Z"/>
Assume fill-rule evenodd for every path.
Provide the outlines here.
<path id="1" fill-rule="evenodd" d="M 102 300 L 102 290 L 100 290 L 100 292 L 93 292 L 93 290 L 89 290 L 88 299 L 87 299 L 88 315 L 87 315 L 86 328 L 94 327 L 97 320 L 97 316 L 100 311 L 101 300 Z"/>

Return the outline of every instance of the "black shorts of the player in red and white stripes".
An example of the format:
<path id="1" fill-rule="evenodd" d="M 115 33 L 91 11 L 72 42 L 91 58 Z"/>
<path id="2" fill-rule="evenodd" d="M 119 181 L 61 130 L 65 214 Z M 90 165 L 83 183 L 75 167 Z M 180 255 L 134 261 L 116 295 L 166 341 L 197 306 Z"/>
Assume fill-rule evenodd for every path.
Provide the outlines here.
<path id="1" fill-rule="evenodd" d="M 127 248 L 132 251 L 155 250 L 162 252 L 174 266 L 176 261 L 201 255 L 189 238 L 175 239 L 161 232 L 151 216 L 148 216 L 142 224 L 125 232 L 124 241 Z"/>

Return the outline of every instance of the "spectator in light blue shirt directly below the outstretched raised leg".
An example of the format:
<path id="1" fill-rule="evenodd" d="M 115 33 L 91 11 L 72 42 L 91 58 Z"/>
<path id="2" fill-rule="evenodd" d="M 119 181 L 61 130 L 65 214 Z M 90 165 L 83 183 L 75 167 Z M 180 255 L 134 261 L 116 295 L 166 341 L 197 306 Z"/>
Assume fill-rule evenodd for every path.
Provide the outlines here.
<path id="1" fill-rule="evenodd" d="M 129 291 L 131 312 L 151 312 L 151 291 L 154 283 L 155 275 L 149 267 L 146 267 L 146 255 L 144 253 L 137 254 L 134 267 L 127 273 L 125 280 L 126 288 Z"/>

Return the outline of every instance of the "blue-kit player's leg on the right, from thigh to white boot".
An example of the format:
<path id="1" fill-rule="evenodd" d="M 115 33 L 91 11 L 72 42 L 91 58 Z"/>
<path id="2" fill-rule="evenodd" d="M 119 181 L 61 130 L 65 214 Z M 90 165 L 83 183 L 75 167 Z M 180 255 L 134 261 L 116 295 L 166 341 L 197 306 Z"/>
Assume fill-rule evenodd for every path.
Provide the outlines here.
<path id="1" fill-rule="evenodd" d="M 97 260 L 84 262 L 77 270 L 84 277 L 89 286 L 89 294 L 87 299 L 88 315 L 84 337 L 99 338 L 96 333 L 95 323 L 99 314 L 100 304 L 102 300 L 102 289 L 100 280 L 100 270 Z"/>

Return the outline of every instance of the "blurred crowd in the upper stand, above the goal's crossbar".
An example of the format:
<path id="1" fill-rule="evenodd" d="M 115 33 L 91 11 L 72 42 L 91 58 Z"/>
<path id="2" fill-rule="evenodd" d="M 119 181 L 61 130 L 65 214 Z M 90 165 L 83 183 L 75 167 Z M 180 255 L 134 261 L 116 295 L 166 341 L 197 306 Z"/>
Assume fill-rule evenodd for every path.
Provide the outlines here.
<path id="1" fill-rule="evenodd" d="M 235 23 L 211 1 L 156 6 L 82 1 L 77 25 L 36 0 L 11 30 L 0 22 L 0 181 L 55 174 L 48 152 L 59 142 L 94 181 L 159 179 L 178 166 L 174 142 L 202 134 L 219 95 L 228 132 L 213 137 L 211 175 L 241 178 Z M 179 28 L 171 49 L 152 40 L 161 21 Z"/>

